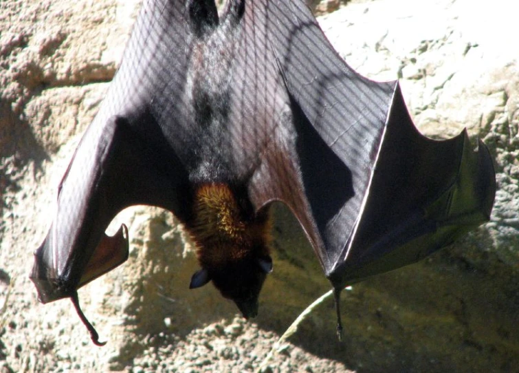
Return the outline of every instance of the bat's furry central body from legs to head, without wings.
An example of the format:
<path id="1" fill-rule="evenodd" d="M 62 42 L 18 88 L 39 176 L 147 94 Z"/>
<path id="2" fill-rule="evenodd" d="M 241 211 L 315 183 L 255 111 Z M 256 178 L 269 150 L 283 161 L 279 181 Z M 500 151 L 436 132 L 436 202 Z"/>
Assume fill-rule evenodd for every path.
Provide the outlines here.
<path id="1" fill-rule="evenodd" d="M 230 4 L 219 21 L 214 3 L 192 1 L 189 7 L 194 41 L 184 100 L 194 119 L 186 139 L 186 164 L 192 208 L 186 228 L 197 257 L 221 294 L 243 315 L 255 316 L 265 271 L 258 259 L 269 257 L 268 209 L 256 213 L 246 182 L 232 169 L 232 84 L 243 3 Z M 203 17 L 200 17 L 203 15 Z"/>

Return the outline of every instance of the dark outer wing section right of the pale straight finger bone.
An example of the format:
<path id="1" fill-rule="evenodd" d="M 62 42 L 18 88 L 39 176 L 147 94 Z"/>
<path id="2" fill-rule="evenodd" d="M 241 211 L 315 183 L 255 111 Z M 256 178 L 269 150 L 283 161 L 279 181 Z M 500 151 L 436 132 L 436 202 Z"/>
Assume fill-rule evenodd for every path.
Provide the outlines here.
<path id="1" fill-rule="evenodd" d="M 346 284 L 423 259 L 490 219 L 492 158 L 472 150 L 466 131 L 450 140 L 421 136 L 397 87 L 360 222 L 331 271 Z"/>

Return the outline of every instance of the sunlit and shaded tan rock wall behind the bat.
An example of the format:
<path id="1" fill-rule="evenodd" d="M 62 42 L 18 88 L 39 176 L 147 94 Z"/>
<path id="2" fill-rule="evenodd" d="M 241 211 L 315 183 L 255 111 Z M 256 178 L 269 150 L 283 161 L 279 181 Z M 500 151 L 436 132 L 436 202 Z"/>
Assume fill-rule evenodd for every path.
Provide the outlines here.
<path id="1" fill-rule="evenodd" d="M 315 3 L 316 1 L 313 1 Z M 0 2 L 0 372 L 256 370 L 280 334 L 329 290 L 287 211 L 276 211 L 274 273 L 254 322 L 197 269 L 170 213 L 135 207 L 124 266 L 80 290 L 104 348 L 69 301 L 41 305 L 27 278 L 56 189 L 118 66 L 137 1 Z M 338 6 L 329 1 L 320 12 Z M 514 2 L 375 0 L 320 18 L 356 70 L 400 78 L 421 131 L 467 127 L 495 159 L 492 221 L 415 266 L 344 292 L 276 345 L 263 372 L 511 372 L 519 368 L 519 41 Z"/>

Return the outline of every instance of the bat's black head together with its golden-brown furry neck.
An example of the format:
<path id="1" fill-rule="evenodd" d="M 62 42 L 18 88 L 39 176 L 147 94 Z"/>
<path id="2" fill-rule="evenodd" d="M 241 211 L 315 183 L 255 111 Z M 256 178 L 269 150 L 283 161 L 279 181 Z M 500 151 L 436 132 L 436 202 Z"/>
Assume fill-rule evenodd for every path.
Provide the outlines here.
<path id="1" fill-rule="evenodd" d="M 258 314 L 258 296 L 272 271 L 272 259 L 268 212 L 254 213 L 243 200 L 245 196 L 228 184 L 203 184 L 197 189 L 188 230 L 202 269 L 192 276 L 190 288 L 212 281 L 248 319 Z"/>

